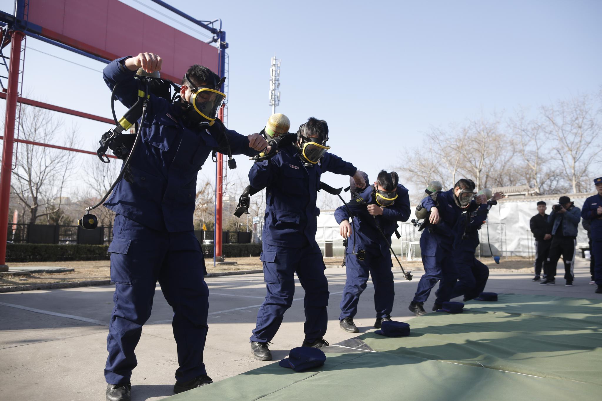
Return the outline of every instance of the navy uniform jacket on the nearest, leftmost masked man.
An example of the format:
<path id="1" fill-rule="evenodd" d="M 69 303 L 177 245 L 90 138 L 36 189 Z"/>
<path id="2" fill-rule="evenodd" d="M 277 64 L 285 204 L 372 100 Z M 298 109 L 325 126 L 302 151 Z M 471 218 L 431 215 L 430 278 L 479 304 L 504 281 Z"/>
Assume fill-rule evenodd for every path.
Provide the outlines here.
<path id="1" fill-rule="evenodd" d="M 103 77 L 123 105 L 137 100 L 135 72 L 123 65 L 127 57 L 108 64 Z M 134 182 L 120 180 L 105 206 L 154 230 L 191 231 L 196 177 L 217 140 L 207 130 L 190 130 L 182 125 L 181 109 L 151 94 L 142 123 L 141 142 L 132 155 Z M 226 130 L 233 154 L 253 156 L 249 139 Z"/>

